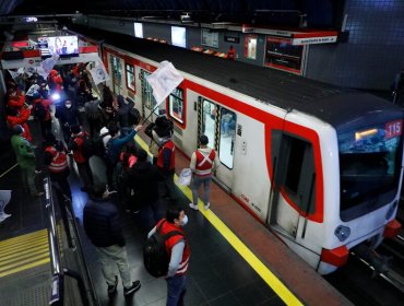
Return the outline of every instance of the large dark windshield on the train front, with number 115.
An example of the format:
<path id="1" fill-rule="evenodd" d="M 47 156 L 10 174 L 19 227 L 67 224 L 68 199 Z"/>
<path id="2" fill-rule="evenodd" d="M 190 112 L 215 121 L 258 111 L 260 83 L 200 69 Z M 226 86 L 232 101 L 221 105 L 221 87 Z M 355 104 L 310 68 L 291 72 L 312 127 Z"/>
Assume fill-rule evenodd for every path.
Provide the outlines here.
<path id="1" fill-rule="evenodd" d="M 395 197 L 402 126 L 402 120 L 395 120 L 338 134 L 343 221 L 373 211 Z"/>

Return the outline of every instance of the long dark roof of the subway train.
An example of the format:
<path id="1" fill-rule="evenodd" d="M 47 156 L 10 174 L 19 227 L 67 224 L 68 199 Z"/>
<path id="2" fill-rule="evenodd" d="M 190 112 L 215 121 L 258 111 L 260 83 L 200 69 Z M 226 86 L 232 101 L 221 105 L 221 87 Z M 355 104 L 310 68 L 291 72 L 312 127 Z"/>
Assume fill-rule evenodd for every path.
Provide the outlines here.
<path id="1" fill-rule="evenodd" d="M 378 113 L 378 116 L 384 114 L 388 119 L 396 117 L 401 111 L 400 107 L 380 97 L 284 71 L 206 56 L 119 33 L 82 26 L 74 30 L 95 40 L 104 40 L 108 45 L 157 62 L 168 60 L 181 71 L 246 94 L 262 103 L 310 114 L 331 123 L 337 130 L 346 128 L 343 127 L 344 122 L 366 117 L 366 113 Z"/>

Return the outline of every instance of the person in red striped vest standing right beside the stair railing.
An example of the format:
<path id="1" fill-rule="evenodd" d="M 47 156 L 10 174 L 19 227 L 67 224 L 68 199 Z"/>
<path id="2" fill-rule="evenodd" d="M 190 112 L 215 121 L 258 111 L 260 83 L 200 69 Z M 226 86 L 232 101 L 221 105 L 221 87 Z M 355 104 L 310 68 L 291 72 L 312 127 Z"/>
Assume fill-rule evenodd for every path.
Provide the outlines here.
<path id="1" fill-rule="evenodd" d="M 49 177 L 59 185 L 64 196 L 72 199 L 72 191 L 68 181 L 70 175 L 67 150 L 60 140 L 52 133 L 45 136 L 44 165 L 48 166 Z"/>

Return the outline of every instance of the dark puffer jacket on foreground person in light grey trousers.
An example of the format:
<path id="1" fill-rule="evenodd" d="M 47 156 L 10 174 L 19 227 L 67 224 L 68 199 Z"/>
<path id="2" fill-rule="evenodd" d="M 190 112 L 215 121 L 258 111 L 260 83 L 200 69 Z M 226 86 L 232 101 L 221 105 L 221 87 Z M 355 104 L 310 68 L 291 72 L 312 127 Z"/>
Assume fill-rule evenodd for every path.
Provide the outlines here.
<path id="1" fill-rule="evenodd" d="M 124 246 L 116 205 L 100 199 L 90 200 L 83 211 L 84 229 L 96 247 Z"/>

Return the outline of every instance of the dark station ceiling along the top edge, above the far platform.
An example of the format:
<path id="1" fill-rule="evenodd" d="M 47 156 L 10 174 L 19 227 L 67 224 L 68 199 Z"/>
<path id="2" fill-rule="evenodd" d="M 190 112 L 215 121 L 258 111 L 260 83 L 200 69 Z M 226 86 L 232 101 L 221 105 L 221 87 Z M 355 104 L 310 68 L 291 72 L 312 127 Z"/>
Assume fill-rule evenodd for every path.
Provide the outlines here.
<path id="1" fill-rule="evenodd" d="M 189 13 L 194 22 L 238 22 L 260 25 L 336 28 L 345 0 L 0 0 L 1 15 L 107 14 L 179 20 Z"/>

